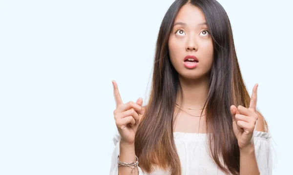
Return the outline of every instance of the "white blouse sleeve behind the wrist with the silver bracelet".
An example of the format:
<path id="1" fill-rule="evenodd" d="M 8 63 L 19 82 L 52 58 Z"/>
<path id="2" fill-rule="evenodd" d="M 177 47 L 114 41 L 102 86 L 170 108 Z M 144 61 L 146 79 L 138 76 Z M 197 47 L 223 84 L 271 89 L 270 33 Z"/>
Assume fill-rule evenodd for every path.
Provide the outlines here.
<path id="1" fill-rule="evenodd" d="M 114 150 L 112 153 L 112 161 L 111 161 L 111 168 L 110 168 L 110 175 L 118 175 L 118 163 L 117 163 L 117 157 L 120 154 L 120 135 L 117 132 L 117 134 L 113 137 L 114 142 Z M 138 160 L 139 162 L 139 160 Z M 138 168 L 138 175 L 144 175 L 142 169 L 137 166 Z M 131 168 L 129 168 L 131 172 Z"/>

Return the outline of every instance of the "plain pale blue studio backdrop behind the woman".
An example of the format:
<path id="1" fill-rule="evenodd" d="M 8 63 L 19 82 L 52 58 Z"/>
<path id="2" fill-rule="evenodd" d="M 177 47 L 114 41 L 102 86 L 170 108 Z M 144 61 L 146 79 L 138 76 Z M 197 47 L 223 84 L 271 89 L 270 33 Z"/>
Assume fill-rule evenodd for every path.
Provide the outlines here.
<path id="1" fill-rule="evenodd" d="M 0 0 L 0 175 L 107 175 L 123 101 L 151 84 L 173 0 Z M 272 133 L 274 175 L 292 169 L 292 1 L 219 0 L 249 93 Z"/>

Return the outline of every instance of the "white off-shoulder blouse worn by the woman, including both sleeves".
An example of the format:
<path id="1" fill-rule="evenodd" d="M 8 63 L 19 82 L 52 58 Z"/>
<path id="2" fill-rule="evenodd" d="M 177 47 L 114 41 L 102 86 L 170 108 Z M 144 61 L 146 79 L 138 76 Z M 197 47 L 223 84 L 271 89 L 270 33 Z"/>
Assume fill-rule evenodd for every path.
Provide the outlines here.
<path id="1" fill-rule="evenodd" d="M 207 134 L 174 132 L 174 141 L 180 158 L 182 175 L 225 175 L 209 156 L 206 144 Z M 270 133 L 254 131 L 254 147 L 258 169 L 261 175 L 272 175 L 272 150 Z M 112 154 L 110 175 L 118 175 L 117 156 L 120 152 L 120 135 L 113 138 L 114 151 Z M 131 171 L 131 169 L 129 168 Z M 139 175 L 170 175 L 169 171 L 156 169 L 147 174 L 138 164 Z"/>

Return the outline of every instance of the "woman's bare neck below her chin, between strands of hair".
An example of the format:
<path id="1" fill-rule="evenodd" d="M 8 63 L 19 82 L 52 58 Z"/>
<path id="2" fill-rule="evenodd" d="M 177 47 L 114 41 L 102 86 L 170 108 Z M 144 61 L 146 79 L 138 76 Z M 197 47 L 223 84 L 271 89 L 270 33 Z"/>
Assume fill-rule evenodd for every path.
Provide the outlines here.
<path id="1" fill-rule="evenodd" d="M 202 109 L 209 93 L 209 77 L 188 79 L 179 75 L 179 82 L 182 87 L 182 106 L 187 108 Z M 177 104 L 180 100 L 177 94 Z"/>

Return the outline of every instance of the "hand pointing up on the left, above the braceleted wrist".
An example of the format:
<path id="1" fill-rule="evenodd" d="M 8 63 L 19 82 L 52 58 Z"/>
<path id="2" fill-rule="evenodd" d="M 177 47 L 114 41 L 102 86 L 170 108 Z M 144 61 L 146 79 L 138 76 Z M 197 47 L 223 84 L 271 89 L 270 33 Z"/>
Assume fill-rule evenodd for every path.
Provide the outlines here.
<path id="1" fill-rule="evenodd" d="M 123 142 L 132 145 L 134 144 L 135 133 L 139 125 L 140 115 L 143 114 L 143 99 L 138 98 L 136 103 L 129 101 L 124 104 L 119 94 L 117 83 L 115 81 L 112 81 L 112 83 L 116 102 L 116 109 L 113 114 L 118 132 L 121 136 L 120 141 L 121 143 Z"/>

